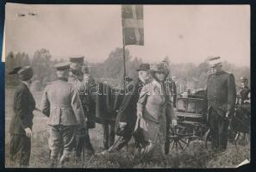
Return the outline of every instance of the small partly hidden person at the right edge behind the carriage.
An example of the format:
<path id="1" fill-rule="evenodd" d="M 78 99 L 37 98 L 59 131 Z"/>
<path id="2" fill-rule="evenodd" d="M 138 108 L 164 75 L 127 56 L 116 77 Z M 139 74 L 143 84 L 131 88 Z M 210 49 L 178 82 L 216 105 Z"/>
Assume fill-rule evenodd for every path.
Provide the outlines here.
<path id="1" fill-rule="evenodd" d="M 240 89 L 239 95 L 241 98 L 241 104 L 250 103 L 251 89 L 248 88 L 248 78 L 240 77 Z"/>

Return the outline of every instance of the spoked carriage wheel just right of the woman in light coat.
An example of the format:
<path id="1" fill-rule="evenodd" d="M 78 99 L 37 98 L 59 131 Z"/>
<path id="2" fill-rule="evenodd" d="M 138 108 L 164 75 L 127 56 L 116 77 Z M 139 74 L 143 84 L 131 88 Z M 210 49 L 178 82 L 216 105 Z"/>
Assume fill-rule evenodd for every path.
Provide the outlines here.
<path id="1" fill-rule="evenodd" d="M 171 151 L 173 149 L 176 149 L 176 151 L 178 151 L 178 149 L 184 151 L 190 144 L 190 134 L 187 134 L 184 126 L 171 126 L 169 140 Z"/>

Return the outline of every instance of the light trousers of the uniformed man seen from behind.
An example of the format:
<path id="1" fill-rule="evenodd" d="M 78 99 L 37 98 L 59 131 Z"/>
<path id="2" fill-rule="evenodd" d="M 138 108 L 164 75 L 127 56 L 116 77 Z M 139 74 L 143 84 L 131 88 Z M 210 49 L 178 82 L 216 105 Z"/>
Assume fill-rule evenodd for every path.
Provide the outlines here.
<path id="1" fill-rule="evenodd" d="M 62 154 L 61 159 L 70 157 L 76 138 L 76 129 L 77 126 L 50 126 L 48 144 L 51 150 L 51 159 L 56 160 L 59 154 Z"/>

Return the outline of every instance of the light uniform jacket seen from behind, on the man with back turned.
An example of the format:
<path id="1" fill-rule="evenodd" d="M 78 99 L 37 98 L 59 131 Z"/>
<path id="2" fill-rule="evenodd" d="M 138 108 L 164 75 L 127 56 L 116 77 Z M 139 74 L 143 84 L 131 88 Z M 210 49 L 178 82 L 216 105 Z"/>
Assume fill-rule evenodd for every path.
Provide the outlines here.
<path id="1" fill-rule="evenodd" d="M 72 83 L 59 77 L 44 90 L 41 112 L 49 117 L 48 125 L 84 125 L 86 121 L 78 93 Z"/>

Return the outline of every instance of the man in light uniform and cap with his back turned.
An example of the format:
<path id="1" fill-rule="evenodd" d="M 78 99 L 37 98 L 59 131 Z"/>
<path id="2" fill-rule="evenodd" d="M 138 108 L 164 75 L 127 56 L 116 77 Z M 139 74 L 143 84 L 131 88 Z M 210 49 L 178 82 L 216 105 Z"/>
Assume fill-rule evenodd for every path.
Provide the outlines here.
<path id="1" fill-rule="evenodd" d="M 77 126 L 86 130 L 86 118 L 78 92 L 72 83 L 67 83 L 69 63 L 56 64 L 58 79 L 49 83 L 41 101 L 41 113 L 49 117 L 49 147 L 51 167 L 56 167 L 60 151 L 59 164 L 69 160 L 76 136 Z"/>

